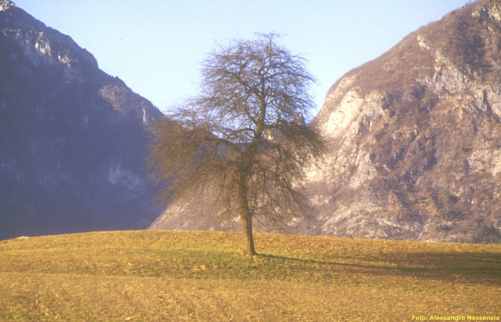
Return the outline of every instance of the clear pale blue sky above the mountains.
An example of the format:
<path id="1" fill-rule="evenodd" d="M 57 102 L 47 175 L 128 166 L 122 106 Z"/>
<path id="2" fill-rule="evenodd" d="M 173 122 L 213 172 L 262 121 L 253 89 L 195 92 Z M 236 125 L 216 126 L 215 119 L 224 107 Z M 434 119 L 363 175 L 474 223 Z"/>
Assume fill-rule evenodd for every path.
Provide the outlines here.
<path id="1" fill-rule="evenodd" d="M 67 34 L 160 110 L 195 95 L 217 43 L 286 34 L 308 59 L 318 109 L 344 73 L 383 54 L 466 0 L 13 0 Z M 315 112 L 313 114 L 316 114 Z"/>

